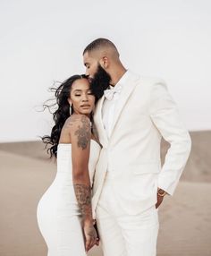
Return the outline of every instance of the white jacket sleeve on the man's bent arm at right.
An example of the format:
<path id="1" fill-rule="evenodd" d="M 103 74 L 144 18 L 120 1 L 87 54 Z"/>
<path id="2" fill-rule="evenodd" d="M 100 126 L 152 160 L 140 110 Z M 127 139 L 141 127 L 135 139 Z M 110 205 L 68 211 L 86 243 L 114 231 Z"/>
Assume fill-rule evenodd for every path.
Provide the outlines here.
<path id="1" fill-rule="evenodd" d="M 157 130 L 170 143 L 157 186 L 173 195 L 190 155 L 190 134 L 184 128 L 165 81 L 156 81 L 150 95 L 150 117 Z"/>

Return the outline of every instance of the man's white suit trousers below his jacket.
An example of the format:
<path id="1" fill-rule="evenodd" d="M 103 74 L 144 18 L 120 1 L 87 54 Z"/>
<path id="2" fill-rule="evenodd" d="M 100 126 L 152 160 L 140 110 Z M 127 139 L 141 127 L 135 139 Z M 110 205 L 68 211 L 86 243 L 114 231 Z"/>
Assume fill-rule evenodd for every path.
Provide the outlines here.
<path id="1" fill-rule="evenodd" d="M 156 256 L 158 227 L 155 207 L 139 215 L 124 214 L 112 184 L 105 179 L 97 204 L 97 228 L 104 256 Z"/>

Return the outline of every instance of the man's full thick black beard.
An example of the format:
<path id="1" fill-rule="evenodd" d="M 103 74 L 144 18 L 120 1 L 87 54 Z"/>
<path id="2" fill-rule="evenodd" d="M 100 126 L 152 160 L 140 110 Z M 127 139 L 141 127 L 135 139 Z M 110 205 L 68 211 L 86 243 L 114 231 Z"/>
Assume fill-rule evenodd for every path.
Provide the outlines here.
<path id="1" fill-rule="evenodd" d="M 90 81 L 90 89 L 97 99 L 104 95 L 104 90 L 109 88 L 110 81 L 110 74 L 106 73 L 100 64 L 98 64 L 97 72 Z"/>

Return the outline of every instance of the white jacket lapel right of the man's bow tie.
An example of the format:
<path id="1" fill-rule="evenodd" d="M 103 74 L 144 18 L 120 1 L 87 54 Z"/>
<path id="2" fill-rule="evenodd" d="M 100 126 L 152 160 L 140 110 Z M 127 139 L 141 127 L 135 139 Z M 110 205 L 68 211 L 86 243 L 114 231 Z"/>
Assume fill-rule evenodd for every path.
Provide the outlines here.
<path id="1" fill-rule="evenodd" d="M 127 78 L 127 81 L 125 81 L 127 84 L 124 85 L 120 98 L 118 99 L 118 102 L 115 107 L 114 121 L 111 129 L 112 130 L 111 136 L 112 136 L 112 133 L 114 132 L 114 127 L 117 124 L 118 119 L 122 113 L 123 107 L 126 105 L 127 100 L 130 98 L 132 91 L 135 89 L 135 86 L 137 85 L 138 79 L 139 79 L 139 76 L 134 75 L 133 73 L 130 72 L 130 75 Z"/>

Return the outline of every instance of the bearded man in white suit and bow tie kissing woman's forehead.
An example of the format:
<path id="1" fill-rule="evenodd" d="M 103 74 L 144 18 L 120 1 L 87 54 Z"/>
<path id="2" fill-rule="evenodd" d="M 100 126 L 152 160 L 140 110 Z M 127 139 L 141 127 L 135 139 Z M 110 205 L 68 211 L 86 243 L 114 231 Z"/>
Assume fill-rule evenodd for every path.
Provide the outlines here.
<path id="1" fill-rule="evenodd" d="M 93 90 L 103 95 L 94 115 L 102 150 L 92 207 L 104 255 L 156 255 L 156 209 L 173 195 L 190 135 L 165 82 L 126 70 L 111 41 L 97 38 L 83 59 Z M 161 168 L 162 136 L 171 147 Z"/>

